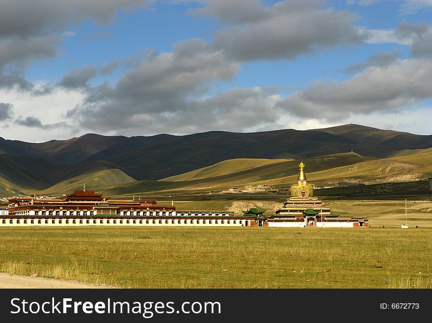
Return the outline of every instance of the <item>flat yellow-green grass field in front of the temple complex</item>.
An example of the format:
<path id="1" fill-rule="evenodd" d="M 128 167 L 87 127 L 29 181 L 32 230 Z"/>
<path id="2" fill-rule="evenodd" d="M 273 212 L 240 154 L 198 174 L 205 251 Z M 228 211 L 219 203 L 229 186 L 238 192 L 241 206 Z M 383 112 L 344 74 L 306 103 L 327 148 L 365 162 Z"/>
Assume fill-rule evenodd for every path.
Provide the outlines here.
<path id="1" fill-rule="evenodd" d="M 430 288 L 432 229 L 1 228 L 0 271 L 132 288 Z"/>

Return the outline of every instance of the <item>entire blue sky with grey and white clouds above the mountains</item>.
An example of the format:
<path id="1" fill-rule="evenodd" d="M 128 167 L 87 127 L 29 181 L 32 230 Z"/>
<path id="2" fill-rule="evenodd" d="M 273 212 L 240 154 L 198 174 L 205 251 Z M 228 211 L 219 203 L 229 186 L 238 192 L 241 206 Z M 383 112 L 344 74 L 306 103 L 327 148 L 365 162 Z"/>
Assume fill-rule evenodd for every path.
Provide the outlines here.
<path id="1" fill-rule="evenodd" d="M 430 135 L 432 0 L 0 0 L 0 137 Z"/>

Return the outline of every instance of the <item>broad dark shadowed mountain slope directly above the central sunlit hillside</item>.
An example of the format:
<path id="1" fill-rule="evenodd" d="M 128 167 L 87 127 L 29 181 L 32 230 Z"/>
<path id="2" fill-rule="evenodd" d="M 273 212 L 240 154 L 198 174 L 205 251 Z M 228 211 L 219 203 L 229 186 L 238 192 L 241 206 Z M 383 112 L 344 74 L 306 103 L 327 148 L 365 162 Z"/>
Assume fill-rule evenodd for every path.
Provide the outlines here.
<path id="1" fill-rule="evenodd" d="M 432 138 L 428 139 L 432 147 Z M 310 158 L 355 151 L 362 156 L 384 158 L 396 153 L 392 147 L 364 144 L 362 141 L 322 131 L 293 129 L 258 132 L 207 132 L 179 136 L 171 141 L 149 145 L 108 161 L 122 167 L 136 179 L 160 179 L 237 158 Z M 134 162 L 130 162 L 134 161 Z"/>

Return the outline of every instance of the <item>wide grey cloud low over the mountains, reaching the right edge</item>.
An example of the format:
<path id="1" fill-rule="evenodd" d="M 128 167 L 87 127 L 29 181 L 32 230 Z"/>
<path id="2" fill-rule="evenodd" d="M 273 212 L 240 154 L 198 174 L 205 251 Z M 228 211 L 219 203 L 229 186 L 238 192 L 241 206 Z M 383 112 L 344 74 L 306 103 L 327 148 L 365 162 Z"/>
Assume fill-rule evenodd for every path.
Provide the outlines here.
<path id="1" fill-rule="evenodd" d="M 278 103 L 302 118 L 343 120 L 353 114 L 394 111 L 432 97 L 432 61 L 397 60 L 371 66 L 343 82 L 317 81 Z"/>

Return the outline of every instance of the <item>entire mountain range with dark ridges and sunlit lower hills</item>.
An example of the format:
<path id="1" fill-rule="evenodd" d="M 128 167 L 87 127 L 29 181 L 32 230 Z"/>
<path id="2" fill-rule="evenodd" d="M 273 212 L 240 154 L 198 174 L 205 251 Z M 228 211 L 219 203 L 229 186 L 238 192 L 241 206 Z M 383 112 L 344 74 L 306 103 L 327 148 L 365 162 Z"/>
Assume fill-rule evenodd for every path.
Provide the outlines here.
<path id="1" fill-rule="evenodd" d="M 280 185 L 297 174 L 300 159 L 318 182 L 351 175 L 372 182 L 415 180 L 432 176 L 431 157 L 432 135 L 356 124 L 184 136 L 86 134 L 45 143 L 0 137 L 0 196 L 59 195 L 84 182 L 111 195 L 266 181 Z"/>

